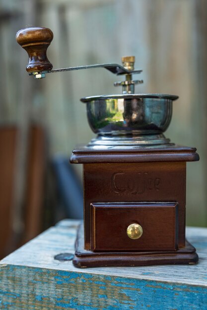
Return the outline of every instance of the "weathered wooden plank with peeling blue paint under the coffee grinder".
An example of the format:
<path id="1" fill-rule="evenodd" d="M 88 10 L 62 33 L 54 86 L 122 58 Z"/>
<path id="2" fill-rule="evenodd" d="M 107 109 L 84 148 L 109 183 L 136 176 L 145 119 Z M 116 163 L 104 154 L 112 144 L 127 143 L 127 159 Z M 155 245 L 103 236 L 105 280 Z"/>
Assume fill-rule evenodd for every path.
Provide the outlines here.
<path id="1" fill-rule="evenodd" d="M 187 228 L 197 265 L 76 269 L 78 221 L 65 220 L 0 262 L 1 309 L 207 309 L 207 229 Z"/>

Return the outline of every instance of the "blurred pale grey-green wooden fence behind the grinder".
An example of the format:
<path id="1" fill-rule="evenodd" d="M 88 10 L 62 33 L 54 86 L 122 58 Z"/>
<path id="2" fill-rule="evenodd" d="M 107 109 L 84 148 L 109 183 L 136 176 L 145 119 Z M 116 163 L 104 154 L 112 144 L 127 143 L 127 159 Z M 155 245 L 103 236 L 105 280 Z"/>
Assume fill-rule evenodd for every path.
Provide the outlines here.
<path id="1" fill-rule="evenodd" d="M 54 68 L 120 62 L 135 55 L 143 69 L 138 93 L 179 95 L 166 136 L 195 146 L 200 162 L 187 172 L 187 224 L 207 226 L 207 3 L 205 0 L 0 0 L 0 124 L 19 128 L 13 214 L 21 226 L 28 126 L 42 124 L 50 157 L 69 157 L 92 137 L 81 97 L 121 93 L 104 69 L 51 74 L 36 81 L 15 33 L 49 27 Z M 76 166 L 81 177 L 81 167 Z"/>

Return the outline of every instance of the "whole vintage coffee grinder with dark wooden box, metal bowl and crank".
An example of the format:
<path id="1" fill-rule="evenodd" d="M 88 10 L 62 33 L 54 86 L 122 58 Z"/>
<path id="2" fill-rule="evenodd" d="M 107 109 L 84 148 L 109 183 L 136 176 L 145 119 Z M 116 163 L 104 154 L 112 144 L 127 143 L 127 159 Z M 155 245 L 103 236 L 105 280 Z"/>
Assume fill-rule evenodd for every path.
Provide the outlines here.
<path id="1" fill-rule="evenodd" d="M 77 147 L 72 163 L 83 164 L 84 223 L 75 243 L 77 267 L 190 264 L 198 261 L 185 239 L 186 162 L 199 160 L 195 148 L 177 146 L 163 132 L 177 96 L 135 94 L 135 57 L 123 65 L 98 64 L 52 70 L 46 51 L 48 28 L 27 28 L 16 35 L 29 54 L 26 70 L 46 73 L 103 67 L 124 75 L 121 95 L 81 99 L 97 133 Z M 74 206 L 75 207 L 75 206 Z"/>

